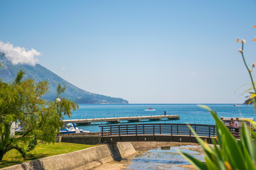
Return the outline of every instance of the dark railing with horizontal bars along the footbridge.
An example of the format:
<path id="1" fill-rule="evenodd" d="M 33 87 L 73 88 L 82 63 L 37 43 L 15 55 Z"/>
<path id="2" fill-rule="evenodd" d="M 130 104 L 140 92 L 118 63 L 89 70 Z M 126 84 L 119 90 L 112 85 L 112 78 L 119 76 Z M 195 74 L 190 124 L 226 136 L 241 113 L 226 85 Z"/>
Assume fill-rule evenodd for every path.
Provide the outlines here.
<path id="1" fill-rule="evenodd" d="M 193 135 L 186 124 L 132 124 L 100 126 L 102 137 L 122 135 Z M 215 125 L 191 124 L 198 136 L 215 137 Z"/>

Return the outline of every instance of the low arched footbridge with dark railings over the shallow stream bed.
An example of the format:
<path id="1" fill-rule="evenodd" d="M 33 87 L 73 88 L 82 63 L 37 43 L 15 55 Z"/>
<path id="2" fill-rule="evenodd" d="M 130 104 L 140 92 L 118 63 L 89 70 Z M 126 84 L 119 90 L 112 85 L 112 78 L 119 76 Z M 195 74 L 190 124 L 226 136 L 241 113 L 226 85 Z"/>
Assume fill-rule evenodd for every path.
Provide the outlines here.
<path id="1" fill-rule="evenodd" d="M 197 135 L 208 143 L 215 138 L 215 125 L 191 124 Z M 137 124 L 100 126 L 102 142 L 197 142 L 186 124 Z"/>

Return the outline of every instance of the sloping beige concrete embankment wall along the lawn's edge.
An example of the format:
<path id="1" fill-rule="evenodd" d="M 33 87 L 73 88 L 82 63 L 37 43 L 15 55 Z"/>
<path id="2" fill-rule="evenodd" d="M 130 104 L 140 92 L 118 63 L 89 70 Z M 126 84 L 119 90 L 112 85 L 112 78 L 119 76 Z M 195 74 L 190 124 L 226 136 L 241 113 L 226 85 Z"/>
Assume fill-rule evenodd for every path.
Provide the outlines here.
<path id="1" fill-rule="evenodd" d="M 114 147 L 114 150 L 113 150 Z M 2 170 L 60 170 L 60 169 L 92 169 L 107 162 L 129 157 L 135 153 L 131 142 L 117 142 L 110 145 L 100 145 L 82 149 L 68 154 L 59 154 L 52 157 L 36 159 L 31 162 L 24 162 Z"/>

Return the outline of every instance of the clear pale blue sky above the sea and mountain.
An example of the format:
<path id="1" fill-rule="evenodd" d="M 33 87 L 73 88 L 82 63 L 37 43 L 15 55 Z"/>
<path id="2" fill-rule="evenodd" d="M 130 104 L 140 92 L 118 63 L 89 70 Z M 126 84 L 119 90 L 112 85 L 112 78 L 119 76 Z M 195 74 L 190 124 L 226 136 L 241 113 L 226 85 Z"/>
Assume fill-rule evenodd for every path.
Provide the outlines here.
<path id="1" fill-rule="evenodd" d="M 256 1 L 3 1 L 0 40 L 86 91 L 130 103 L 242 103 Z"/>

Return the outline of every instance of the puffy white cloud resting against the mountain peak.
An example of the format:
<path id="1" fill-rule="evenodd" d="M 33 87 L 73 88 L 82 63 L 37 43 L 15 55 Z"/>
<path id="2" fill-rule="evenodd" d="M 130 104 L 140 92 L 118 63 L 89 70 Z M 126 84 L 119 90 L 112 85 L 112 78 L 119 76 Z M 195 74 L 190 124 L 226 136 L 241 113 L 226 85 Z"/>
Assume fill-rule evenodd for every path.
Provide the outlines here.
<path id="1" fill-rule="evenodd" d="M 10 42 L 4 43 L 0 41 L 0 52 L 4 52 L 5 57 L 12 62 L 12 64 L 29 64 L 36 65 L 38 59 L 35 56 L 41 55 L 40 52 L 31 48 L 26 50 L 24 47 L 14 47 Z"/>

